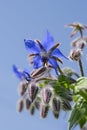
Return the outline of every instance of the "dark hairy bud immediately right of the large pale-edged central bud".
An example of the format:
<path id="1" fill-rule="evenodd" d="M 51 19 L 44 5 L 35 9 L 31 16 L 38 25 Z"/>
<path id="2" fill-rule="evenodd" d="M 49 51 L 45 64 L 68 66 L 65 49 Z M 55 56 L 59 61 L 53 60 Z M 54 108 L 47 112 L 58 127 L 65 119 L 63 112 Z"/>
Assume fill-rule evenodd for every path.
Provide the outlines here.
<path id="1" fill-rule="evenodd" d="M 52 108 L 54 112 L 59 112 L 60 111 L 60 99 L 57 99 L 56 97 L 53 98 L 52 100 Z"/>

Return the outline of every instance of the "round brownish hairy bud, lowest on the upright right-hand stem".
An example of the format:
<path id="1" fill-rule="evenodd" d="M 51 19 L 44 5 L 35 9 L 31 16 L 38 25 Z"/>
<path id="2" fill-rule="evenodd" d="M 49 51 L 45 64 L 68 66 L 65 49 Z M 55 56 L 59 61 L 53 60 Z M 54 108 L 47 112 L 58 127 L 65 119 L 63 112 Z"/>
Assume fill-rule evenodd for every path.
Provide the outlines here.
<path id="1" fill-rule="evenodd" d="M 81 54 L 82 54 L 81 49 L 71 50 L 69 57 L 72 60 L 78 61 L 81 58 Z"/>

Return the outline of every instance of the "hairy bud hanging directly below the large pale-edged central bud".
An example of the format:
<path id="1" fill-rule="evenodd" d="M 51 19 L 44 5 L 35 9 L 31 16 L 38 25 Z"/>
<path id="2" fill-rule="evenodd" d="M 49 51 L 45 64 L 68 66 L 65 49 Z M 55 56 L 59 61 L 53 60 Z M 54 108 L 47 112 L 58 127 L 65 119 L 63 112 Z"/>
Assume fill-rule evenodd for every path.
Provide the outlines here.
<path id="1" fill-rule="evenodd" d="M 41 104 L 40 106 L 40 116 L 46 118 L 48 114 L 49 107 L 47 105 Z"/>

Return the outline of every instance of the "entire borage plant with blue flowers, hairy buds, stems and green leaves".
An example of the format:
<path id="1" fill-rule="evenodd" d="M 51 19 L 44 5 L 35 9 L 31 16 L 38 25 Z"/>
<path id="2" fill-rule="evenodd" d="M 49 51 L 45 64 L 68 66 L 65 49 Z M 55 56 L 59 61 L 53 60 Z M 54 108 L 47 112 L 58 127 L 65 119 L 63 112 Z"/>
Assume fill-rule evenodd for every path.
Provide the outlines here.
<path id="1" fill-rule="evenodd" d="M 55 43 L 53 36 L 47 31 L 43 41 L 24 39 L 33 70 L 29 72 L 13 65 L 13 71 L 20 79 L 17 110 L 22 112 L 26 108 L 31 115 L 34 115 L 35 110 L 39 110 L 42 118 L 46 118 L 51 110 L 56 119 L 61 110 L 71 110 L 68 120 L 68 130 L 71 130 L 77 124 L 82 128 L 87 122 L 87 78 L 84 76 L 81 59 L 87 44 L 87 37 L 83 36 L 87 26 L 80 23 L 67 26 L 74 28 L 71 37 L 77 32 L 80 33 L 80 36 L 71 42 L 73 49 L 70 50 L 69 58 L 63 55 L 58 48 L 60 43 Z M 62 58 L 78 62 L 81 74 L 69 67 L 61 69 Z"/>

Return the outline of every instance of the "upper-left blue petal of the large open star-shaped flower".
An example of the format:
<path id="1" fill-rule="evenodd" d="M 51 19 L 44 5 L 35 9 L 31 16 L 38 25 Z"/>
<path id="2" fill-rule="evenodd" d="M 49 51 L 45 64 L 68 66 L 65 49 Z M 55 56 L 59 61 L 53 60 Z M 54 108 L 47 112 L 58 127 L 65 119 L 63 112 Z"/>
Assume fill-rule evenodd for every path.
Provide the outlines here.
<path id="1" fill-rule="evenodd" d="M 40 48 L 35 41 L 24 39 L 24 42 L 25 42 L 26 49 L 28 49 L 30 52 L 32 52 L 32 53 L 39 53 L 40 52 Z"/>

